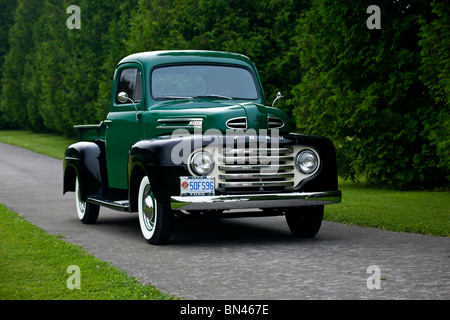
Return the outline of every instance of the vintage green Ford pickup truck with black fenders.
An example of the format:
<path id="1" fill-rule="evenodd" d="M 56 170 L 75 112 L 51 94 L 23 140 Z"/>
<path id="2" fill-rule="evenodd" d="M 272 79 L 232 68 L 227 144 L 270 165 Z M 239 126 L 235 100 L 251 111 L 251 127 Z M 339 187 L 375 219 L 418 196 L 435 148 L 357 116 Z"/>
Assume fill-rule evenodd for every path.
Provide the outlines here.
<path id="1" fill-rule="evenodd" d="M 214 51 L 154 51 L 117 65 L 109 113 L 77 125 L 64 156 L 63 192 L 78 217 L 100 206 L 138 212 L 144 238 L 167 243 L 178 216 L 284 215 L 314 237 L 324 205 L 339 203 L 336 154 L 323 137 L 289 132 L 266 106 L 255 65 Z"/>

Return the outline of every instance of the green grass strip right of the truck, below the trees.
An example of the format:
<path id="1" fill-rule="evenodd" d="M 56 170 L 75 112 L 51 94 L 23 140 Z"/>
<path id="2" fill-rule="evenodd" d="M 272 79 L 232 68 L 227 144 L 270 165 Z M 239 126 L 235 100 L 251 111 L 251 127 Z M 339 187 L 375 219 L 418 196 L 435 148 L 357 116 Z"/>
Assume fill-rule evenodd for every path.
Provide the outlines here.
<path id="1" fill-rule="evenodd" d="M 393 191 L 341 182 L 342 203 L 325 220 L 388 231 L 450 236 L 450 193 Z"/>

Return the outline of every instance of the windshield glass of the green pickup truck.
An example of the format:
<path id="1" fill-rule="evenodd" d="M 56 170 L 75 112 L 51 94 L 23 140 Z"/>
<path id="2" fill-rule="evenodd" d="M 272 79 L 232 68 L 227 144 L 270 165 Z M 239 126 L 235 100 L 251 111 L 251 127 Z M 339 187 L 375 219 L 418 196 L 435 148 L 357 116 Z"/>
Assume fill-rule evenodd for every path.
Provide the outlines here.
<path id="1" fill-rule="evenodd" d="M 241 67 L 176 65 L 153 70 L 155 99 L 214 98 L 256 100 L 259 92 L 252 73 Z"/>

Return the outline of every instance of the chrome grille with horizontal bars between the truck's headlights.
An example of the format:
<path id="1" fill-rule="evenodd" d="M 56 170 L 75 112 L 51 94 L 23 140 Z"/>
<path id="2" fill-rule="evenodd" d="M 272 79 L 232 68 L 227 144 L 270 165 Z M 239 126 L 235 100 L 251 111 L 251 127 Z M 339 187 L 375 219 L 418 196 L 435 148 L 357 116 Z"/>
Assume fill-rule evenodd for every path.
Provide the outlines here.
<path id="1" fill-rule="evenodd" d="M 274 191 L 294 187 L 289 148 L 224 148 L 218 159 L 218 190 Z"/>

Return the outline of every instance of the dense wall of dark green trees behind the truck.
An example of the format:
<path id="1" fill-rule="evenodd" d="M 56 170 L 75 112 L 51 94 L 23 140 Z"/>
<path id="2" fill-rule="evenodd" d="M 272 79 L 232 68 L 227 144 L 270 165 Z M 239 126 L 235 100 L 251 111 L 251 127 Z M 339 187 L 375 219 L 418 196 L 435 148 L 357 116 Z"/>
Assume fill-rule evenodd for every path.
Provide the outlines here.
<path id="1" fill-rule="evenodd" d="M 81 29 L 66 26 L 73 1 L 0 0 L 0 129 L 73 135 L 101 121 L 128 54 L 233 51 L 257 64 L 268 102 L 284 93 L 298 131 L 335 142 L 343 177 L 450 181 L 448 0 L 76 2 Z M 372 4 L 381 29 L 366 26 Z"/>

